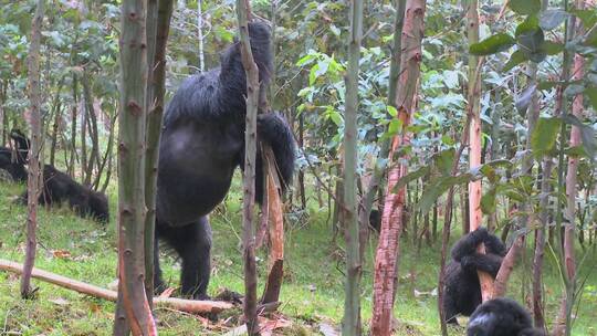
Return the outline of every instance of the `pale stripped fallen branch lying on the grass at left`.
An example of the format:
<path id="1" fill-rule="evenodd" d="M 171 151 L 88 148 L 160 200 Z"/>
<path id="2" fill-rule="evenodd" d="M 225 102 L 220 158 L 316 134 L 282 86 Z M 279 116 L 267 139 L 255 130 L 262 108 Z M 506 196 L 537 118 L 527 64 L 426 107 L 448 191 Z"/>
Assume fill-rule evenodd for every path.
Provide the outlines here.
<path id="1" fill-rule="evenodd" d="M 20 263 L 0 259 L 0 270 L 21 274 L 23 272 L 23 265 Z M 100 297 L 112 302 L 116 302 L 117 298 L 117 293 L 115 291 L 102 288 L 88 283 L 72 280 L 66 276 L 57 275 L 35 267 L 33 269 L 31 276 L 94 297 Z M 154 297 L 154 305 L 156 307 L 164 306 L 176 311 L 193 314 L 220 313 L 224 309 L 229 309 L 232 307 L 232 304 L 228 302 L 196 301 L 175 297 Z"/>

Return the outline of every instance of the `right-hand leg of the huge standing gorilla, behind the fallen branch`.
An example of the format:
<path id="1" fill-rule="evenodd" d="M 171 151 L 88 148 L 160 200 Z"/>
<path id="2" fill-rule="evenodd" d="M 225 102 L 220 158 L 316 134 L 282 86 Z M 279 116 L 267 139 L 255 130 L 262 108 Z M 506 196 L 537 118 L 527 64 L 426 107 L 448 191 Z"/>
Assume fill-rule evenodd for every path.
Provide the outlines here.
<path id="1" fill-rule="evenodd" d="M 196 300 L 207 298 L 211 259 L 211 228 L 207 217 L 185 227 L 159 225 L 156 232 L 182 261 L 181 294 Z"/>

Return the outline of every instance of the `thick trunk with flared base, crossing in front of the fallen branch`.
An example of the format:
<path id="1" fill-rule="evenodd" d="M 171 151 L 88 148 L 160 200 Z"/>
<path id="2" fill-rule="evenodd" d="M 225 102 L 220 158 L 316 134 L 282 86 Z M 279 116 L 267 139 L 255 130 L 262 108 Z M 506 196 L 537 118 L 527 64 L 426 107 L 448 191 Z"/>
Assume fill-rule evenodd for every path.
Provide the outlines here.
<path id="1" fill-rule="evenodd" d="M 157 335 L 145 292 L 146 1 L 122 6 L 118 134 L 118 306 L 114 335 Z M 124 316 L 122 313 L 125 313 Z M 125 317 L 125 318 L 123 318 Z"/>

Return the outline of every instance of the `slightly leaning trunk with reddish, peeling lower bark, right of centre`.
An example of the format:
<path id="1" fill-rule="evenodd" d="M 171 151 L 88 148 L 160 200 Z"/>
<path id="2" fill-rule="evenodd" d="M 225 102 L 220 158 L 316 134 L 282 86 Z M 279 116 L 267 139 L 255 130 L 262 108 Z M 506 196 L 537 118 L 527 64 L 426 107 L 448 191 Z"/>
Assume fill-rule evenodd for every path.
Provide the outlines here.
<path id="1" fill-rule="evenodd" d="M 420 75 L 421 41 L 423 36 L 425 0 L 407 0 L 402 42 L 405 52 L 401 55 L 400 75 L 396 87 L 396 106 L 398 118 L 402 122 L 402 130 L 391 145 L 389 161 L 392 164 L 392 154 L 399 146 L 408 145 L 410 135 L 407 126 L 410 123 L 412 109 L 416 105 L 416 94 Z M 388 172 L 386 200 L 381 217 L 379 243 L 375 256 L 374 271 L 374 307 L 371 317 L 371 332 L 374 335 L 390 335 L 392 307 L 397 285 L 399 239 L 402 228 L 406 188 L 395 190 L 400 178 L 406 175 L 405 164 L 392 164 Z"/>

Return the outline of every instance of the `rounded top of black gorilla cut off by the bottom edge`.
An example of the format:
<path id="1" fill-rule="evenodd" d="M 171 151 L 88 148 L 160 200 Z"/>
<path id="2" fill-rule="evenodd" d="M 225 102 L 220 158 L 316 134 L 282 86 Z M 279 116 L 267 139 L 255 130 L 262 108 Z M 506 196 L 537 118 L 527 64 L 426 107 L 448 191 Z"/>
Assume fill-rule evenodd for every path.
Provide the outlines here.
<path id="1" fill-rule="evenodd" d="M 545 336 L 533 328 L 531 315 L 517 302 L 494 298 L 480 305 L 469 319 L 468 336 Z"/>

